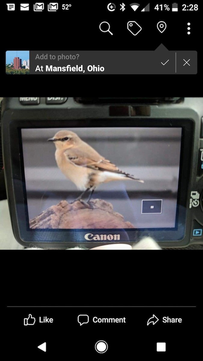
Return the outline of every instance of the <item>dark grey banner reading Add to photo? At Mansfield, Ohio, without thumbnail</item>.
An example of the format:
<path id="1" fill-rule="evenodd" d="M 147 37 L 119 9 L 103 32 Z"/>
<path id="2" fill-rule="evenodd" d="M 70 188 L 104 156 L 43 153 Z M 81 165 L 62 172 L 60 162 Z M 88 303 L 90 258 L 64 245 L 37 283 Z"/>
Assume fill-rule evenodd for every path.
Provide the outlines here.
<path id="1" fill-rule="evenodd" d="M 30 51 L 30 74 L 196 74 L 196 51 Z"/>

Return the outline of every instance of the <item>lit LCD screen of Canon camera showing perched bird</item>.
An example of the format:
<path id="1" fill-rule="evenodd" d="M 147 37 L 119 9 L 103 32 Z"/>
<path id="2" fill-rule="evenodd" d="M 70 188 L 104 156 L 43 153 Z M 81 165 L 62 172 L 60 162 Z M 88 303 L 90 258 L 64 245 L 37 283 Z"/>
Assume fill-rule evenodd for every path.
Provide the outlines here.
<path id="1" fill-rule="evenodd" d="M 30 230 L 177 226 L 181 127 L 29 128 L 21 136 Z"/>

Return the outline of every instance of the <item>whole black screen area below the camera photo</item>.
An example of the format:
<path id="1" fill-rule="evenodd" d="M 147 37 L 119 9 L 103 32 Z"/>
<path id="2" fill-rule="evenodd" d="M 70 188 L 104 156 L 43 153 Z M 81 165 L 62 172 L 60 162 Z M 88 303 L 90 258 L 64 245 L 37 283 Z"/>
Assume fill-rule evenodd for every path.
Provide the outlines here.
<path id="1" fill-rule="evenodd" d="M 99 339 L 104 339 L 111 352 L 105 353 L 113 356 L 126 357 L 138 356 L 141 347 L 144 349 L 141 355 L 156 354 L 163 359 L 163 353 L 156 353 L 156 342 L 165 342 L 167 347 L 172 346 L 172 352 L 164 353 L 165 358 L 171 360 L 172 355 L 187 356 L 193 358 L 199 354 L 200 332 L 199 325 L 202 319 L 202 300 L 200 297 L 201 280 L 201 254 L 196 253 L 169 253 L 169 252 L 7 252 L 7 263 L 1 269 L 2 299 L 5 302 L 1 308 L 1 326 L 5 331 L 5 342 L 9 356 L 28 356 L 30 359 L 37 357 L 58 356 L 90 356 L 95 359 L 94 344 Z M 9 261 L 10 260 L 10 261 Z M 2 262 L 3 265 L 3 262 Z M 7 265 L 7 267 L 6 267 Z M 7 305 L 30 306 L 30 308 L 7 309 Z M 76 311 L 70 310 L 70 322 L 67 319 L 67 310 L 60 317 L 61 311 L 56 308 L 51 312 L 49 308 L 43 308 L 42 313 L 31 310 L 31 306 L 197 306 L 195 309 L 169 309 L 163 312 L 163 308 L 135 309 L 134 316 L 141 325 L 132 326 L 110 325 L 105 327 L 81 328 L 76 324 Z M 40 324 L 42 327 L 28 328 L 23 326 L 23 318 L 28 317 L 29 312 L 33 316 L 47 316 L 56 318 L 54 325 Z M 155 313 L 156 311 L 156 313 Z M 126 317 L 131 311 L 126 311 Z M 184 323 L 180 325 L 145 326 L 152 313 L 159 317 L 184 317 Z M 95 308 L 88 308 L 92 316 L 116 317 L 118 314 L 113 308 L 107 313 L 95 312 Z M 94 314 L 94 315 L 93 315 Z M 125 317 L 122 310 L 119 317 Z M 143 321 L 144 320 L 144 321 Z M 4 321 L 4 322 L 3 322 Z M 54 326 L 52 328 L 52 326 Z M 83 327 L 84 326 L 84 327 Z M 102 326 L 102 325 L 100 325 Z M 120 328 L 122 326 L 122 332 Z M 126 326 L 126 327 L 124 327 Z M 167 328 L 163 326 L 168 326 Z M 174 326 L 174 327 L 172 327 Z M 180 326 L 180 327 L 178 327 Z M 82 328 L 83 327 L 83 328 Z M 29 331 L 30 330 L 30 331 Z M 32 331 L 33 330 L 33 331 Z M 41 330 L 41 331 L 40 331 Z M 53 330 L 53 331 L 52 331 Z M 154 331 L 156 330 L 156 332 Z M 84 332 L 82 332 L 84 331 Z M 119 340 L 117 341 L 117 336 Z M 38 350 L 37 346 L 47 342 L 49 352 Z M 79 342 L 79 344 L 78 344 Z M 121 348 L 117 348 L 118 344 Z M 81 347 L 80 347 L 81 345 Z M 135 348 L 136 346 L 136 348 Z M 119 351 L 119 352 L 118 352 Z M 157 356 L 162 355 L 162 356 Z M 99 357 L 96 354 L 97 357 Z"/>

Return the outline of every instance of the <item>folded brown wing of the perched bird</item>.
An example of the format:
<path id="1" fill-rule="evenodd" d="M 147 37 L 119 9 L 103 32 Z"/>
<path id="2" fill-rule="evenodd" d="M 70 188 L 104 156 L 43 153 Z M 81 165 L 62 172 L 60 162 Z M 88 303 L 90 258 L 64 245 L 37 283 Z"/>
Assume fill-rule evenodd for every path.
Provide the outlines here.
<path id="1" fill-rule="evenodd" d="M 95 170 L 123 173 L 116 167 L 115 164 L 102 157 L 93 148 L 90 147 L 90 149 L 90 152 L 86 152 L 80 150 L 79 148 L 70 148 L 66 149 L 64 155 L 67 160 L 76 166 L 92 168 Z"/>

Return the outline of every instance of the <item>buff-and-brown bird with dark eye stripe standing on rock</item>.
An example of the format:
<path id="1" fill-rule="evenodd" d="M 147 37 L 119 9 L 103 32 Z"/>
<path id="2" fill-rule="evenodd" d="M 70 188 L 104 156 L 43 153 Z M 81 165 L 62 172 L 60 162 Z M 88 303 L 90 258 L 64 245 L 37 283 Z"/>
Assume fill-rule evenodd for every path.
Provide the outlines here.
<path id="1" fill-rule="evenodd" d="M 75 184 L 78 190 L 82 191 L 75 201 L 85 203 L 82 197 L 90 191 L 86 202 L 89 203 L 95 188 L 101 183 L 124 180 L 144 183 L 134 175 L 118 169 L 115 164 L 101 156 L 73 131 L 60 130 L 48 141 L 55 143 L 55 159 L 61 172 Z"/>

